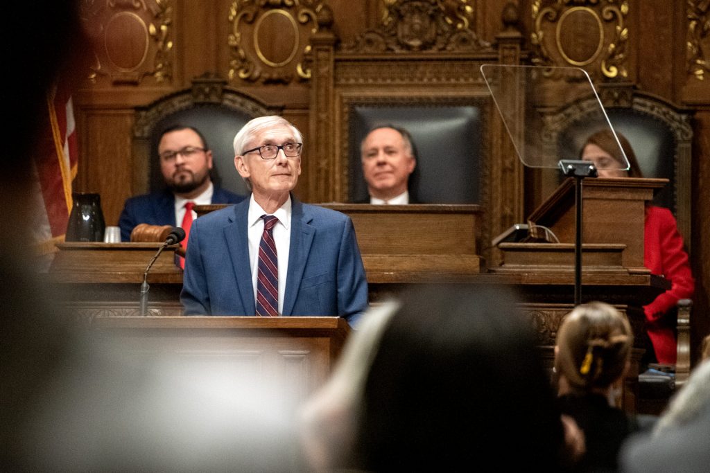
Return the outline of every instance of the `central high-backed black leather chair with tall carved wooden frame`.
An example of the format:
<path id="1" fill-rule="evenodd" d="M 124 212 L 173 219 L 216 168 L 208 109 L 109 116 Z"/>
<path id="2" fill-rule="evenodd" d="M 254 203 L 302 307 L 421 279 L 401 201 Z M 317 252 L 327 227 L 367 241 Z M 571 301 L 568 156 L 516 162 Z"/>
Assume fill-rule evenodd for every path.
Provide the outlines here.
<path id="1" fill-rule="evenodd" d="M 516 8 L 504 9 L 495 45 L 476 34 L 474 8 L 436 2 L 387 2 L 381 23 L 341 42 L 332 18 L 321 18 L 307 60 L 309 134 L 318 137 L 308 153 L 320 163 L 305 169 L 311 200 L 364 199 L 360 140 L 366 128 L 390 122 L 408 128 L 420 148 L 410 182 L 417 199 L 480 204 L 486 242 L 522 221 L 523 166 L 480 72 L 484 64 L 520 64 Z M 484 252 L 492 265 L 497 251 Z"/>

